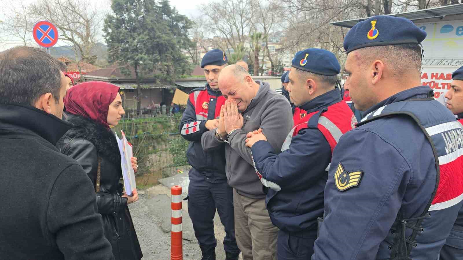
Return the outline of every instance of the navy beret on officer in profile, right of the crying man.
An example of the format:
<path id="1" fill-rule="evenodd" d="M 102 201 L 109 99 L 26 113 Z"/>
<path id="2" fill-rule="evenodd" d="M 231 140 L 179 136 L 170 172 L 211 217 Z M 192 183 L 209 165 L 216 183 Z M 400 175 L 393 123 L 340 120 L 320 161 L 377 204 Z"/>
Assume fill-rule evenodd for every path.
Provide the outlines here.
<path id="1" fill-rule="evenodd" d="M 293 67 L 328 76 L 337 75 L 341 70 L 332 52 L 315 48 L 298 51 L 293 59 Z"/>

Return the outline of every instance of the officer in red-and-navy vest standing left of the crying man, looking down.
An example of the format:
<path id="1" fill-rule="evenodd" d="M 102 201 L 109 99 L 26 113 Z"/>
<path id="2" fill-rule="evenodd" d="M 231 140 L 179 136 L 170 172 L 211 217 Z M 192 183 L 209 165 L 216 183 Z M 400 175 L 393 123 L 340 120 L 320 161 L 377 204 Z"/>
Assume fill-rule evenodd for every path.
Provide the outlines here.
<path id="1" fill-rule="evenodd" d="M 217 79 L 228 63 L 225 52 L 210 50 L 201 61 L 206 86 L 189 94 L 187 109 L 179 125 L 181 136 L 190 141 L 188 162 L 193 167 L 188 177 L 188 214 L 193 222 L 202 260 L 215 260 L 217 241 L 214 235 L 215 210 L 225 227 L 224 248 L 227 260 L 238 260 L 240 253 L 235 240 L 233 190 L 225 176 L 225 146 L 206 152 L 201 146 L 201 135 L 219 125 L 220 107 L 225 98 Z"/>

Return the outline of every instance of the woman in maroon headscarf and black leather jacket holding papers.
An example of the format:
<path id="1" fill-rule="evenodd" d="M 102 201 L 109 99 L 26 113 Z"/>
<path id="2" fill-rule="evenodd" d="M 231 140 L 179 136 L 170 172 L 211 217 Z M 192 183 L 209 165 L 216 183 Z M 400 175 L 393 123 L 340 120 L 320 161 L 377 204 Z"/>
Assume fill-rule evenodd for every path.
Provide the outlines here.
<path id="1" fill-rule="evenodd" d="M 106 238 L 116 260 L 142 258 L 137 234 L 127 204 L 138 199 L 123 193 L 120 153 L 109 125 L 119 124 L 124 115 L 119 87 L 101 81 L 75 85 L 64 97 L 67 122 L 74 124 L 57 143 L 65 155 L 78 161 L 95 186 L 98 211 L 103 217 Z M 136 158 L 132 167 L 137 170 Z M 92 230 L 82 230 L 92 232 Z"/>

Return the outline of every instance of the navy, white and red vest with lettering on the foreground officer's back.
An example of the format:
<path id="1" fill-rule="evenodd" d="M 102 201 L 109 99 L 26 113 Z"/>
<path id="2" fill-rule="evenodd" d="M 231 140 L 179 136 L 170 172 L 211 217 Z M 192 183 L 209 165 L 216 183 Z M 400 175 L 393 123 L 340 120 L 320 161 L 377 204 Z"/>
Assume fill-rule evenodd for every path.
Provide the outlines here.
<path id="1" fill-rule="evenodd" d="M 390 236 L 386 240 L 392 240 L 390 250 L 390 260 L 410 260 L 410 253 L 418 243 L 431 243 L 421 241 L 423 235 L 418 236 L 419 232 L 425 232 L 426 228 L 432 229 L 436 222 L 446 221 L 445 219 L 434 219 L 434 223 L 426 222 L 425 218 L 430 217 L 432 211 L 445 210 L 459 204 L 463 199 L 463 128 L 462 124 L 455 121 L 455 118 L 439 115 L 432 117 L 426 107 L 435 107 L 436 102 L 433 98 L 409 99 L 406 101 L 395 102 L 372 111 L 366 115 L 357 127 L 368 124 L 379 118 L 406 115 L 423 131 L 426 139 L 430 142 L 434 159 L 436 161 L 436 186 L 425 210 L 413 218 L 404 218 L 402 210 L 396 217 L 394 224 L 389 232 Z M 441 113 L 442 114 L 442 113 Z M 435 214 L 438 215 L 438 214 Z M 428 230 L 429 233 L 434 230 Z M 438 232 L 439 230 L 436 230 Z M 429 238 L 430 234 L 427 234 Z M 418 240 L 418 241 L 417 241 Z M 432 241 L 433 242 L 433 241 Z M 434 241 L 435 242 L 435 241 Z M 386 249 L 387 250 L 387 249 Z M 384 252 L 378 252 L 383 256 Z M 388 253 L 384 253 L 388 254 Z"/>

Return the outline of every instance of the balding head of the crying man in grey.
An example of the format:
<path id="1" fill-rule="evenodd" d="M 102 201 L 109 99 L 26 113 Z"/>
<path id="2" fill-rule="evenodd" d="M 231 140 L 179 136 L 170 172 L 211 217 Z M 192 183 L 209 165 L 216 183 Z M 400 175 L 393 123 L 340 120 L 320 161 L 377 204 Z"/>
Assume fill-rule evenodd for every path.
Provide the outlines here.
<path id="1" fill-rule="evenodd" d="M 247 109 L 257 95 L 259 86 L 243 67 L 236 64 L 225 67 L 219 75 L 219 89 L 222 95 L 235 101 L 239 111 Z"/>

